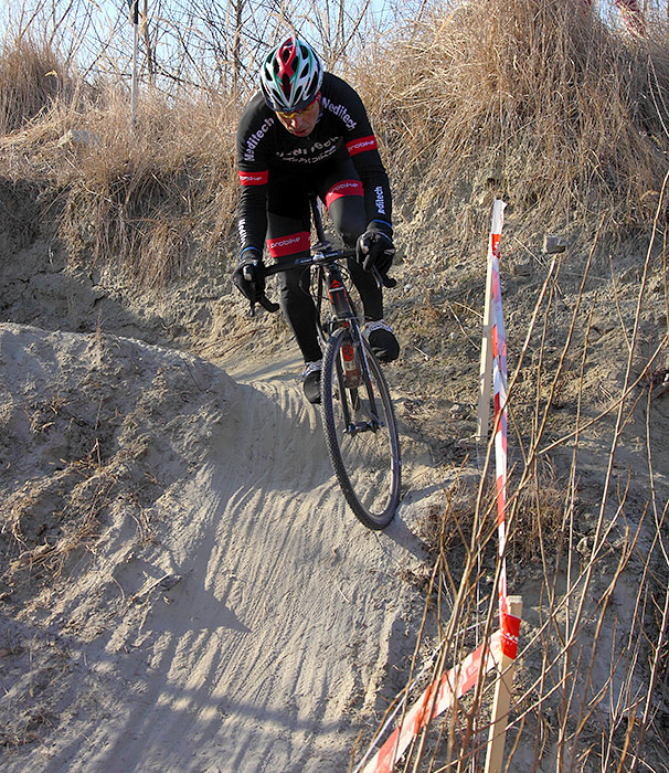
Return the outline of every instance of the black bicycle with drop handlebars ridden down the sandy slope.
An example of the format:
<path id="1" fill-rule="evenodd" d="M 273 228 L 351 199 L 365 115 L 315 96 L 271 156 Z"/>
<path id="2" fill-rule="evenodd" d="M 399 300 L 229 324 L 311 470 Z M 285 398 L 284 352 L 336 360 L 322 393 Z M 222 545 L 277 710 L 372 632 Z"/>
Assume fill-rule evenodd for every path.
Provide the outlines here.
<path id="1" fill-rule="evenodd" d="M 402 463 L 393 403 L 346 286 L 348 272 L 341 262 L 353 257 L 355 251 L 330 244 L 316 197 L 310 203 L 318 243 L 308 256 L 267 266 L 265 275 L 294 267 L 310 273 L 309 288 L 323 350 L 321 413 L 330 462 L 357 518 L 370 529 L 384 529 L 395 515 L 401 490 Z M 376 280 L 389 287 L 395 285 L 394 279 L 381 277 L 378 272 Z M 279 308 L 264 294 L 258 303 L 268 311 Z M 252 314 L 253 308 L 252 304 Z"/>

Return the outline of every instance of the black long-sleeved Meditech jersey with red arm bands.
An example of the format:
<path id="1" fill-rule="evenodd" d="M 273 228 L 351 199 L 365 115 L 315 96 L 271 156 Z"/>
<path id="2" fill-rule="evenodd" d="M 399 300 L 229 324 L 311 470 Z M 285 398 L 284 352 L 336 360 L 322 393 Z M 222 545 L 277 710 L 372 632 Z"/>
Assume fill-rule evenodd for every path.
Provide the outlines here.
<path id="1" fill-rule="evenodd" d="M 331 73 L 325 73 L 320 93 L 320 115 L 308 137 L 290 134 L 267 107 L 261 93 L 246 105 L 237 129 L 242 250 L 263 251 L 266 191 L 273 170 L 293 170 L 295 183 L 300 184 L 300 174 L 314 179 L 319 169 L 330 168 L 329 165 L 349 157 L 364 189 L 368 221 L 391 224 L 387 174 L 361 98 Z"/>

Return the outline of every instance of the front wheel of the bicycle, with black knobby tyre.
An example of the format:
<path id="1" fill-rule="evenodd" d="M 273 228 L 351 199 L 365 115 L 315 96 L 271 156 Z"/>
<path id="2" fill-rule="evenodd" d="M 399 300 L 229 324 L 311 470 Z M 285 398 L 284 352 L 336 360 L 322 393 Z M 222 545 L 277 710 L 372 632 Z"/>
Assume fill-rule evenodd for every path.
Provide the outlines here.
<path id="1" fill-rule="evenodd" d="M 353 349 L 358 371 L 344 369 Z M 365 367 L 367 363 L 367 367 Z M 400 440 L 390 390 L 364 337 L 353 348 L 346 328 L 330 338 L 322 370 L 326 442 L 343 495 L 370 529 L 384 529 L 400 502 Z"/>

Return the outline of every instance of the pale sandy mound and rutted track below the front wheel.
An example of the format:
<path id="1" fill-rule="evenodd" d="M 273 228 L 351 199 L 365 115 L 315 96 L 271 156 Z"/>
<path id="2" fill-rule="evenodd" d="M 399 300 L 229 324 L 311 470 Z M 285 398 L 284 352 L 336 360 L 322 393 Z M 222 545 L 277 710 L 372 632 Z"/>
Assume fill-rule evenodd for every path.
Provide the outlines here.
<path id="1" fill-rule="evenodd" d="M 414 645 L 401 575 L 428 490 L 364 529 L 293 361 L 244 361 L 233 380 L 137 340 L 13 324 L 0 359 L 3 491 L 26 547 L 43 527 L 47 546 L 3 605 L 0 705 L 29 741 L 3 770 L 346 770 Z M 411 488 L 425 469 L 406 460 Z M 60 555 L 82 498 L 96 536 Z"/>

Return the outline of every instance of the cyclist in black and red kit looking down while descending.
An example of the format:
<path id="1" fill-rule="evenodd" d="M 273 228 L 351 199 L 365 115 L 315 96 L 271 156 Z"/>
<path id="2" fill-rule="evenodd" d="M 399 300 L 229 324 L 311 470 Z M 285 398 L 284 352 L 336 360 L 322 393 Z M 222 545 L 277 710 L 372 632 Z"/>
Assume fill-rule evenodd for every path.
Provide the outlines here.
<path id="1" fill-rule="evenodd" d="M 309 194 L 317 193 L 343 244 L 355 247 L 349 271 L 362 300 L 364 335 L 381 361 L 395 360 L 400 346 L 383 320 L 382 292 L 371 272 L 375 266 L 384 275 L 393 262 L 391 192 L 362 100 L 295 38 L 270 51 L 259 81 L 237 129 L 242 252 L 233 283 L 252 301 L 262 296 L 265 243 L 276 261 L 308 254 Z M 305 395 L 318 403 L 321 351 L 308 274 L 305 279 L 295 268 L 279 276 L 282 310 L 305 359 Z"/>

